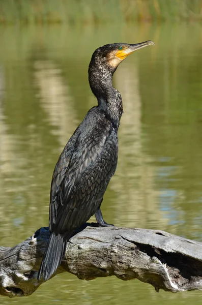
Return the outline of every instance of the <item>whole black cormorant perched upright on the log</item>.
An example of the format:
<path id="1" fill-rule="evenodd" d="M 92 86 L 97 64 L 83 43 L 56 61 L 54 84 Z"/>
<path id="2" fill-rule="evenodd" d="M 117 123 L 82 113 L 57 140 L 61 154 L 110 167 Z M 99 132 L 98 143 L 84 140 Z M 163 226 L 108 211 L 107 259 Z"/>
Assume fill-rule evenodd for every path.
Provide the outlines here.
<path id="1" fill-rule="evenodd" d="M 50 238 L 38 272 L 38 281 L 48 280 L 64 258 L 69 238 L 95 214 L 100 226 L 111 226 L 102 217 L 100 205 L 118 160 L 118 128 L 123 113 L 122 98 L 112 86 L 119 64 L 132 52 L 154 45 L 104 45 L 92 55 L 89 83 L 98 106 L 91 108 L 66 144 L 55 166 L 50 191 Z"/>

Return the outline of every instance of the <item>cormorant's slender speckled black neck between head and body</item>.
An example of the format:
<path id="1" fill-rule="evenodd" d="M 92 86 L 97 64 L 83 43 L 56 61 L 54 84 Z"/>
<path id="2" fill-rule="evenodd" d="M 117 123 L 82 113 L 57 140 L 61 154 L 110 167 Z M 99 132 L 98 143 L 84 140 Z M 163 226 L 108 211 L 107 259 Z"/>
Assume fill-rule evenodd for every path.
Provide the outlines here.
<path id="1" fill-rule="evenodd" d="M 110 71 L 89 69 L 89 83 L 98 100 L 98 107 L 107 113 L 118 129 L 123 113 L 123 104 L 119 91 L 112 85 L 112 77 L 113 73 Z"/>

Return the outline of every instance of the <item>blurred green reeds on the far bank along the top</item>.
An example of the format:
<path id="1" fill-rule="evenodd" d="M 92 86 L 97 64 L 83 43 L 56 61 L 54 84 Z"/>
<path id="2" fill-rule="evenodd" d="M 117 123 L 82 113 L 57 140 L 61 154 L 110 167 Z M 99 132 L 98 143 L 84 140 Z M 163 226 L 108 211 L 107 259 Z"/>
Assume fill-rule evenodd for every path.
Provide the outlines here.
<path id="1" fill-rule="evenodd" d="M 0 22 L 99 23 L 202 18 L 200 0 L 1 0 Z"/>

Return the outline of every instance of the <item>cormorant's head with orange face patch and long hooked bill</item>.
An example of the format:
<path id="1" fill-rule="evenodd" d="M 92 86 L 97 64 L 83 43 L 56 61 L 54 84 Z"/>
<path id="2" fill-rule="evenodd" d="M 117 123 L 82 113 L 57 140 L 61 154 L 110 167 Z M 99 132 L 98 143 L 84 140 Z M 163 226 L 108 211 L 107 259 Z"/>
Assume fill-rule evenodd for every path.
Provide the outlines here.
<path id="1" fill-rule="evenodd" d="M 154 45 L 154 43 L 151 40 L 137 44 L 107 44 L 95 50 L 92 55 L 91 64 L 96 65 L 101 69 L 108 68 L 110 71 L 114 72 L 128 55 L 136 50 L 152 45 Z"/>

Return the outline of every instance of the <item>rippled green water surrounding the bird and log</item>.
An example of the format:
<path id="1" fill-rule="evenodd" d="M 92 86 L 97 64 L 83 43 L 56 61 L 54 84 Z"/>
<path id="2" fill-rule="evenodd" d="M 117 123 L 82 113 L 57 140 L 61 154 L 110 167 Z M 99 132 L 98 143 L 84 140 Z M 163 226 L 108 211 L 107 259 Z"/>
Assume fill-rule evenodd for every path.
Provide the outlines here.
<path id="1" fill-rule="evenodd" d="M 102 204 L 117 226 L 161 229 L 202 241 L 201 24 L 0 27 L 0 238 L 14 246 L 48 225 L 49 189 L 64 145 L 96 104 L 92 52 L 153 40 L 114 75 L 123 98 L 119 163 Z M 5 304 L 200 304 L 137 280 L 86 282 L 64 273 Z"/>

